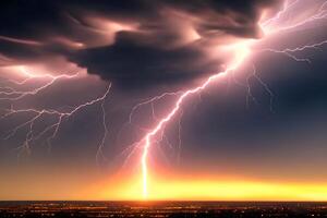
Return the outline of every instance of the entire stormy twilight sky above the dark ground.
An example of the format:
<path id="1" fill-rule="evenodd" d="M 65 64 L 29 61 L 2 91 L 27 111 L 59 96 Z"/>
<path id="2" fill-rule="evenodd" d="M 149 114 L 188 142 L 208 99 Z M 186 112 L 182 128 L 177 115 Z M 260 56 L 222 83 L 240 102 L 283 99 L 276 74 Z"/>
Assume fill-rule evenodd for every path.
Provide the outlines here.
<path id="1" fill-rule="evenodd" d="M 323 0 L 1 1 L 0 199 L 138 198 L 112 191 L 142 189 L 138 142 L 244 49 L 153 137 L 149 174 L 327 193 L 326 17 Z"/>

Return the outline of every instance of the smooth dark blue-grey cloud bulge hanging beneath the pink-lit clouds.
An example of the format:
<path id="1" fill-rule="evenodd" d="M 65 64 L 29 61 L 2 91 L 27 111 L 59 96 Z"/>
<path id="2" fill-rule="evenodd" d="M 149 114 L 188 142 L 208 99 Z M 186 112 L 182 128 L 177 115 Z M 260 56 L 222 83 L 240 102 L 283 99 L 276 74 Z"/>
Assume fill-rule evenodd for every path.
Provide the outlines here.
<path id="1" fill-rule="evenodd" d="M 113 46 L 78 52 L 73 61 L 100 74 L 116 85 L 135 87 L 152 84 L 183 83 L 199 73 L 217 69 L 216 62 L 204 60 L 203 51 L 192 47 L 165 50 L 137 45 L 119 34 Z M 107 73 L 106 73 L 107 72 Z"/>

